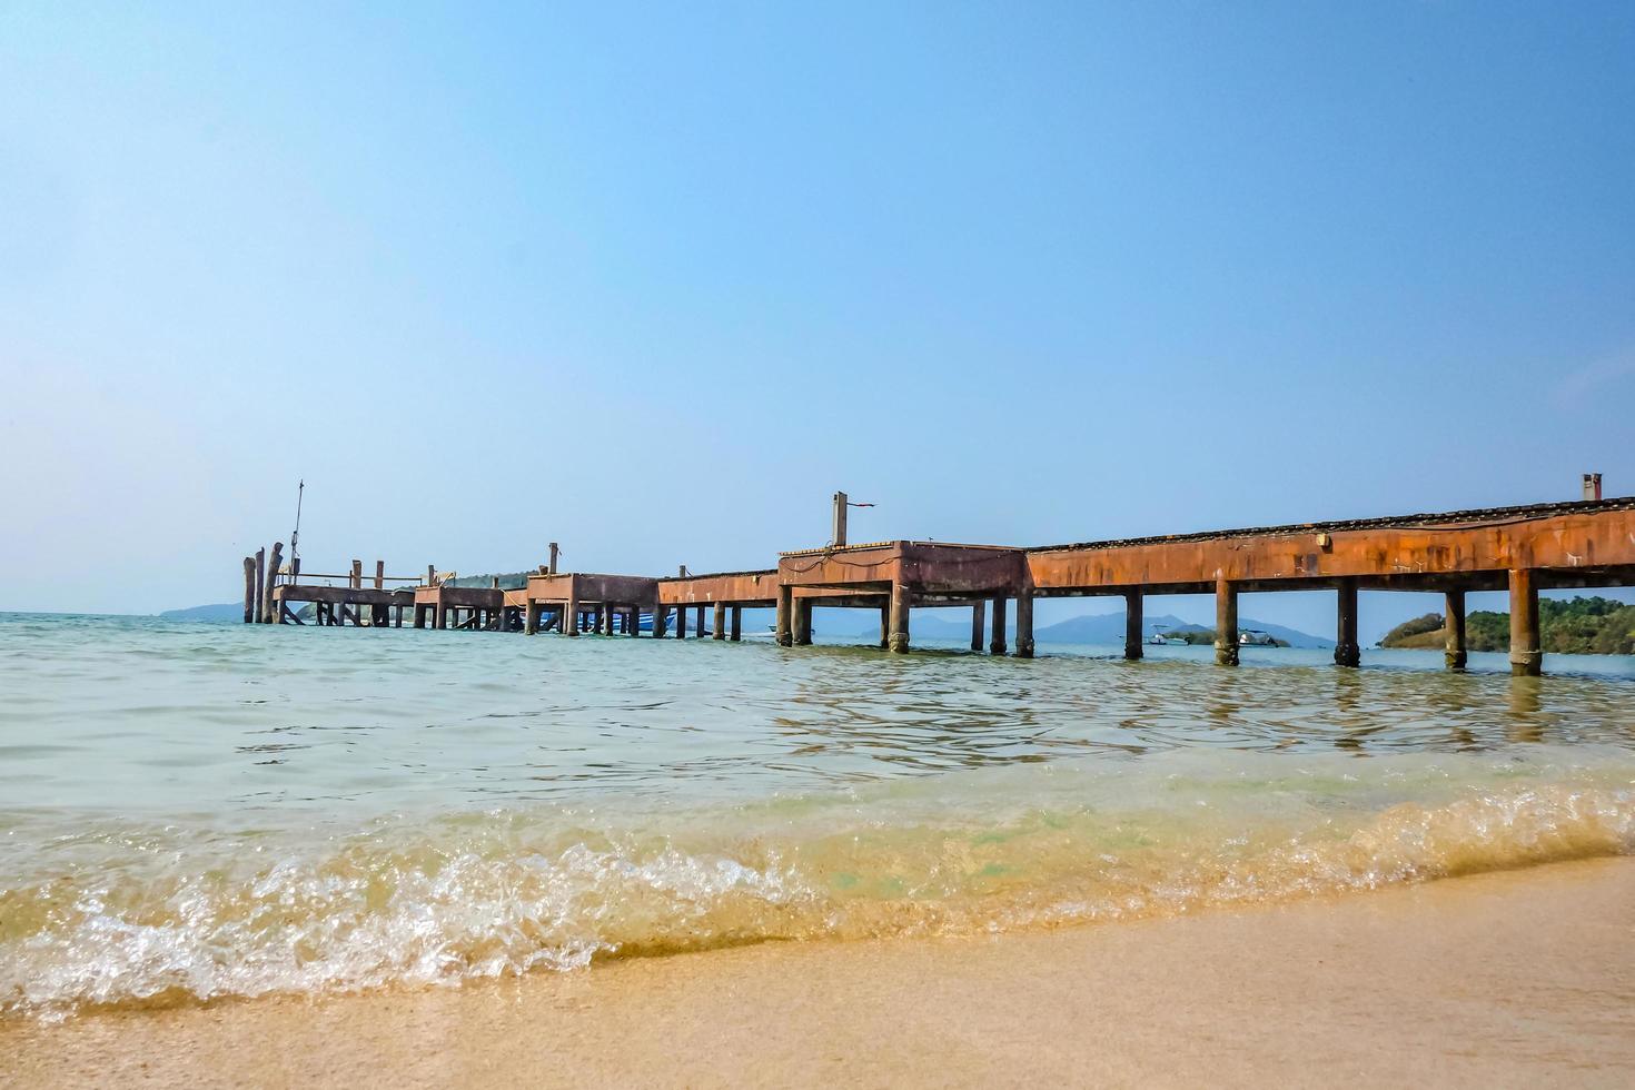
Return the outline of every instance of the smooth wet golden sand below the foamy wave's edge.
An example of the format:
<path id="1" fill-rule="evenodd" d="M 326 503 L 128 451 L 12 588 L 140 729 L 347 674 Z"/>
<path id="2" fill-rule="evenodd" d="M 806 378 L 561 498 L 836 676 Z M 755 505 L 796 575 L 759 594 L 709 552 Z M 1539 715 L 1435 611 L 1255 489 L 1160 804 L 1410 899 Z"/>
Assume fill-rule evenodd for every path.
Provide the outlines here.
<path id="1" fill-rule="evenodd" d="M 1635 860 L 976 941 L 0 1025 L 52 1085 L 1635 1085 Z"/>

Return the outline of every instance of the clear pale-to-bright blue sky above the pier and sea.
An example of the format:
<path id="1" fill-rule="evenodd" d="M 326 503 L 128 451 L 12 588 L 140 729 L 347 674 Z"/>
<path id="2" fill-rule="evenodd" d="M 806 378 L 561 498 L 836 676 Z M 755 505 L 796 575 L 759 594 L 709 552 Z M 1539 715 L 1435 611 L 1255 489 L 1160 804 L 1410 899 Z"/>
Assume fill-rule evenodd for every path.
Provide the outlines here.
<path id="1" fill-rule="evenodd" d="M 1635 5 L 152 7 L 0 5 L 5 610 L 298 477 L 404 574 L 1635 492 Z"/>

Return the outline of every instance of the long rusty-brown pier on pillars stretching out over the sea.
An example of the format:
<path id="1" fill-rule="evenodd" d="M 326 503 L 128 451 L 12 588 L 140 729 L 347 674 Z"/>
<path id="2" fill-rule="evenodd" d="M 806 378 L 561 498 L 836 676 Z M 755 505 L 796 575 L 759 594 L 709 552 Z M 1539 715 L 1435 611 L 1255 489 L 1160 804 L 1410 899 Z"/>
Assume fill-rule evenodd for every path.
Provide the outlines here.
<path id="1" fill-rule="evenodd" d="M 845 497 L 839 494 L 837 505 Z M 844 541 L 844 511 L 835 518 Z M 906 652 L 909 611 L 924 606 L 971 610 L 971 650 L 1002 655 L 1006 623 L 1015 610 L 1017 657 L 1033 655 L 1037 598 L 1117 595 L 1125 601 L 1125 657 L 1141 657 L 1144 600 L 1151 595 L 1215 595 L 1215 659 L 1238 662 L 1238 595 L 1334 590 L 1334 662 L 1355 667 L 1360 590 L 1437 592 L 1447 618 L 1445 662 L 1463 668 L 1465 595 L 1507 590 L 1511 668 L 1540 673 L 1539 592 L 1635 585 L 1635 497 L 1575 503 L 1403 515 L 1331 523 L 1262 526 L 1215 533 L 1087 541 L 1059 546 L 986 546 L 940 541 L 829 544 L 778 556 L 777 567 L 672 577 L 558 572 L 549 564 L 526 587 L 456 587 L 427 569 L 423 582 L 386 577 L 376 562 L 371 587 L 360 561 L 348 575 L 302 577 L 299 564 L 280 567 L 283 546 L 244 559 L 245 623 L 298 621 L 296 603 L 312 603 L 319 624 L 500 632 L 556 631 L 564 636 L 639 636 L 643 614 L 654 637 L 687 639 L 706 631 L 718 641 L 742 637 L 744 608 L 777 610 L 777 642 L 811 642 L 814 606 L 880 614 L 880 647 Z M 302 583 L 345 579 L 347 585 Z M 415 582 L 387 590 L 387 582 Z M 710 624 L 706 626 L 706 610 Z M 674 624 L 672 624 L 674 616 Z"/>

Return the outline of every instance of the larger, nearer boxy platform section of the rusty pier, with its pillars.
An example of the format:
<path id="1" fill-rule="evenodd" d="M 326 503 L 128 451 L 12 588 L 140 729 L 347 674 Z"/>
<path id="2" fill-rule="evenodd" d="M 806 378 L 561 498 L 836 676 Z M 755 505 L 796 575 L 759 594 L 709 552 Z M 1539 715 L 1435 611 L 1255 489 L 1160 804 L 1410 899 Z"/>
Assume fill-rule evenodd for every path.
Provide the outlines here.
<path id="1" fill-rule="evenodd" d="M 811 642 L 811 610 L 853 606 L 881 610 L 881 646 L 911 646 L 914 606 L 968 606 L 973 646 L 981 642 L 981 613 L 992 603 L 992 654 L 1004 654 L 1006 601 L 1017 603 L 1019 657 L 1033 655 L 1033 585 L 1024 549 L 942 541 L 876 541 L 855 546 L 798 549 L 778 556 L 778 642 Z"/>

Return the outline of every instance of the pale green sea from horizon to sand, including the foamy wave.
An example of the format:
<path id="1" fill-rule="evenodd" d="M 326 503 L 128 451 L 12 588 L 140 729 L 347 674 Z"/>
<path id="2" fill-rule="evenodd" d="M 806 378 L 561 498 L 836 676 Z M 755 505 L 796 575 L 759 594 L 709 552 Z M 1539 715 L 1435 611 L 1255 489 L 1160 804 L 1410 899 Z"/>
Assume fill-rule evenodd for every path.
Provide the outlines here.
<path id="1" fill-rule="evenodd" d="M 1635 851 L 1635 662 L 0 618 L 0 1010 L 1172 915 Z M 1488 670 L 1483 670 L 1488 667 Z"/>

